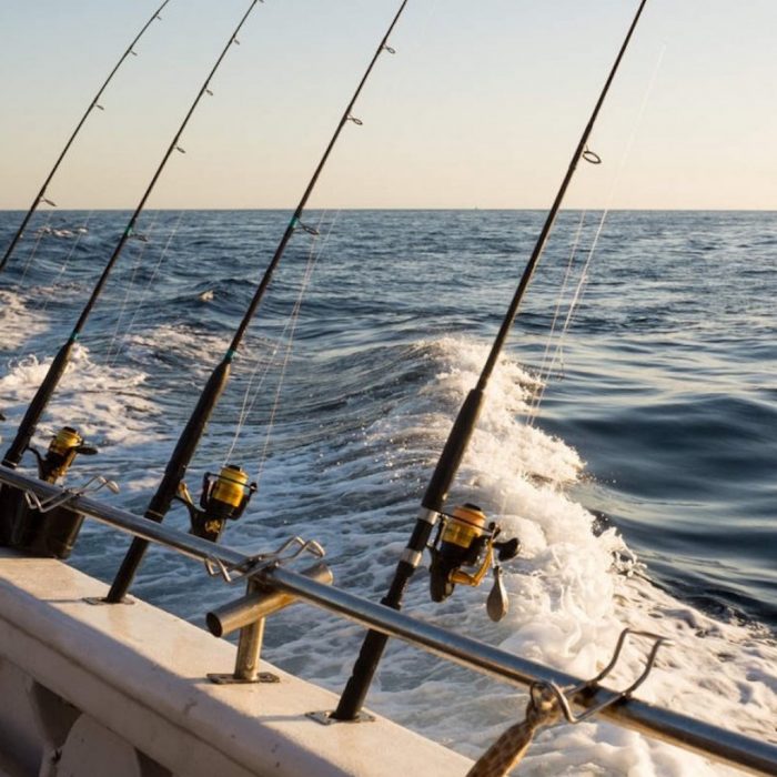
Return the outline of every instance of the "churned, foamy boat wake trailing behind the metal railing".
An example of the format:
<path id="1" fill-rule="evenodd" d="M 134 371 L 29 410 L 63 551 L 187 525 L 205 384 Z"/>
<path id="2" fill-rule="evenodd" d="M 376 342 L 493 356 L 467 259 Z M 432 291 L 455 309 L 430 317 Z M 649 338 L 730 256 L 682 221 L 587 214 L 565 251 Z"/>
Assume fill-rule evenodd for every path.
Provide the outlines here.
<path id="1" fill-rule="evenodd" d="M 23 306 L 11 310 L 12 315 L 27 314 Z M 46 325 L 42 317 L 38 323 Z M 7 349 L 20 344 L 8 337 Z M 246 345 L 244 366 L 236 370 L 223 412 L 214 415 L 196 467 L 212 468 L 232 438 L 251 361 L 245 356 L 266 350 L 266 343 Z M 93 357 L 78 346 L 38 444 L 44 445 L 56 426 L 78 425 L 101 448 L 94 460 L 99 471 L 120 482 L 120 503 L 142 512 L 194 401 L 193 384 L 204 374 L 196 356 L 214 359 L 222 346 L 219 337 L 184 325 L 132 333 L 120 360 L 131 366 L 108 366 L 102 354 Z M 426 478 L 477 379 L 486 346 L 444 336 L 326 351 L 312 339 L 297 343 L 296 351 L 269 454 L 266 394 L 260 396 L 242 430 L 240 463 L 260 477 L 260 493 L 246 515 L 230 525 L 224 542 L 256 552 L 292 534 L 317 539 L 327 549 L 336 584 L 376 601 L 385 593 Z M 273 369 L 281 364 L 268 363 Z M 36 356 L 17 359 L 0 380 L 7 433 L 18 424 L 48 364 Z M 498 624 L 487 618 L 483 588 L 460 586 L 448 601 L 432 604 L 425 569 L 413 581 L 406 612 L 581 678 L 602 669 L 623 628 L 656 632 L 674 645 L 662 648 L 639 698 L 774 740 L 777 647 L 768 632 L 757 624 L 716 620 L 652 583 L 649 567 L 617 526 L 603 526 L 571 496 L 569 487 L 585 475 L 577 452 L 543 432 L 542 420 L 525 423 L 538 387 L 536 376 L 503 359 L 448 500 L 450 505 L 477 503 L 507 536 L 521 539 L 519 556 L 505 567 L 506 617 Z M 91 462 L 84 476 L 89 468 Z M 185 526 L 182 512 L 171 514 L 171 525 Z M 124 549 L 125 543 L 108 529 L 88 523 L 73 561 L 110 578 Z M 209 607 L 225 599 L 223 586 L 206 579 L 199 566 L 160 553 L 149 554 L 134 591 L 198 624 Z M 263 655 L 340 690 L 362 636 L 362 629 L 343 620 L 292 607 L 270 620 Z M 630 649 L 612 685 L 628 685 L 643 660 L 644 653 Z M 470 756 L 480 755 L 519 719 L 525 703 L 523 692 L 396 640 L 369 699 L 377 712 Z M 535 775 L 629 777 L 730 771 L 599 722 L 539 735 L 523 768 Z"/>

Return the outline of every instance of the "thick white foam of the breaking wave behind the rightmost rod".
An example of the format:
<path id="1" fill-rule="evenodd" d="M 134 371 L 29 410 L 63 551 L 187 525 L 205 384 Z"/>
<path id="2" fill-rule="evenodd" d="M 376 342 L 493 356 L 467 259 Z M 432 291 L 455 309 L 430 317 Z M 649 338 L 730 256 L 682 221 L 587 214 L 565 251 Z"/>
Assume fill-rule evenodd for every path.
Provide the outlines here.
<path id="1" fill-rule="evenodd" d="M 485 351 L 456 340 L 435 343 L 432 351 L 440 364 L 434 380 L 420 396 L 365 430 L 366 447 L 380 452 L 375 476 L 362 475 L 354 481 L 359 462 L 341 451 L 340 457 L 347 463 L 333 467 L 337 474 L 332 482 L 324 475 L 324 482 L 319 484 L 326 496 L 332 497 L 337 490 L 353 493 L 372 488 L 377 493 L 385 487 L 386 477 L 400 486 L 408 482 L 411 468 L 417 464 L 422 435 L 427 451 L 440 448 L 452 415 L 440 412 L 440 397 L 444 397 L 448 411 L 463 401 L 474 385 Z M 408 592 L 407 609 L 581 678 L 593 677 L 603 668 L 623 628 L 658 633 L 670 637 L 674 645 L 662 648 L 657 665 L 637 697 L 756 738 L 775 740 L 777 648 L 753 627 L 716 622 L 654 586 L 645 576 L 649 576 L 649 571 L 644 574 L 642 565 L 628 563 L 633 554 L 616 529 L 594 535 L 594 516 L 564 491 L 582 471 L 579 457 L 562 441 L 527 427 L 516 417 L 516 411 L 524 408 L 531 385 L 531 376 L 509 361 L 494 374 L 456 490 L 466 491 L 467 498 L 487 507 L 491 515 L 498 515 L 505 532 L 522 541 L 521 556 L 507 565 L 505 574 L 509 613 L 502 623 L 492 624 L 484 607 L 487 591 L 461 586 L 443 605 L 432 605 L 423 573 Z M 279 464 L 286 466 L 289 462 Z M 321 464 L 326 471 L 326 463 Z M 386 470 L 391 475 L 384 474 Z M 403 509 L 406 527 L 413 506 L 407 503 Z M 347 525 L 342 518 L 327 522 L 322 516 L 314 529 L 311 527 L 316 538 L 334 548 L 332 565 L 340 585 L 362 586 L 360 593 L 367 593 L 363 589 L 366 586 L 373 598 L 382 593 L 387 569 L 393 568 L 406 541 L 406 528 L 386 528 L 379 548 L 370 541 L 360 543 L 359 537 L 365 537 L 357 527 L 385 522 L 386 517 L 385 512 L 367 509 L 351 515 Z M 614 563 L 617 558 L 626 561 Z M 366 575 L 365 567 L 370 569 Z M 293 624 L 295 617 L 289 616 L 289 622 Z M 279 658 L 339 689 L 350 672 L 360 632 L 334 625 L 332 619 L 311 625 L 309 615 L 305 618 L 304 633 L 297 623 L 299 638 L 285 639 Z M 343 647 L 343 639 L 352 649 Z M 311 657 L 312 642 L 316 644 L 316 658 Z M 640 647 L 636 642 L 624 655 L 610 686 L 628 685 L 640 673 L 644 657 L 644 644 Z M 523 716 L 526 696 L 441 665 L 410 646 L 392 644 L 370 704 L 476 757 Z M 685 777 L 735 771 L 635 733 L 593 722 L 577 727 L 559 726 L 542 734 L 522 774 Z"/>

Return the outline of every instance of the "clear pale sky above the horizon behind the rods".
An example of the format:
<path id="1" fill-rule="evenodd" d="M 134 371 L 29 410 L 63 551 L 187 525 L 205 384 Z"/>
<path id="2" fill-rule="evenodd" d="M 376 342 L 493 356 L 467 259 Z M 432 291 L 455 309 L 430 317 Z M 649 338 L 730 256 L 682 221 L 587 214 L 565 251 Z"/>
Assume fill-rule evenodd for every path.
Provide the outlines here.
<path id="1" fill-rule="evenodd" d="M 160 2 L 0 2 L 0 208 L 29 206 Z M 53 181 L 60 208 L 135 205 L 248 6 L 171 0 Z M 410 0 L 311 206 L 549 206 L 636 7 Z M 259 4 L 149 206 L 293 206 L 397 8 Z M 777 210 L 776 33 L 776 0 L 648 0 L 591 143 L 605 163 L 567 204 Z"/>

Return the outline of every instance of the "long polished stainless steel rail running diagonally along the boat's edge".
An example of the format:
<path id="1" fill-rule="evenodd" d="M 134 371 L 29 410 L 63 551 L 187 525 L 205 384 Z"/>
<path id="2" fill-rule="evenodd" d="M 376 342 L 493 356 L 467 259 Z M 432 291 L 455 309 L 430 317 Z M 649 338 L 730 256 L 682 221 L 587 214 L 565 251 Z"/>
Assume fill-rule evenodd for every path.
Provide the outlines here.
<path id="1" fill-rule="evenodd" d="M 26 476 L 4 466 L 0 466 L 0 483 L 33 493 L 41 500 L 67 495 L 67 492 L 59 486 Z M 579 678 L 564 672 L 420 622 L 390 607 L 374 604 L 336 587 L 316 583 L 283 566 L 262 568 L 259 565 L 259 571 L 252 572 L 250 571 L 252 558 L 243 553 L 168 528 L 148 518 L 102 504 L 89 496 L 73 495 L 68 506 L 88 517 L 170 547 L 191 558 L 215 563 L 224 568 L 248 569 L 250 575 L 258 577 L 265 585 L 294 594 L 305 602 L 511 685 L 526 686 L 535 682 L 555 683 L 561 687 L 581 685 Z M 750 774 L 777 774 L 777 745 L 727 731 L 718 726 L 655 707 L 646 702 L 618 697 L 619 694 L 615 690 L 595 686 L 577 694 L 572 700 L 579 707 L 589 708 L 603 702 L 617 699 L 599 713 L 603 718 Z"/>

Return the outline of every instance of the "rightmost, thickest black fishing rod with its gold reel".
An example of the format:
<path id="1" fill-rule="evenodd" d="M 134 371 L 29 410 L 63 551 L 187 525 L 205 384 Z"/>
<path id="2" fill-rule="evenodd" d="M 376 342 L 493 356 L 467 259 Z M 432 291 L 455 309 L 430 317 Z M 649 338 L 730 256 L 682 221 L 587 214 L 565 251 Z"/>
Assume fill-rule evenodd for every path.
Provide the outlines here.
<path id="1" fill-rule="evenodd" d="M 498 533 L 498 528 L 495 526 L 495 524 L 491 524 L 491 526 L 486 528 L 485 516 L 475 505 L 467 504 L 463 507 L 457 507 L 451 515 L 444 514 L 443 509 L 447 498 L 447 492 L 453 483 L 453 478 L 456 475 L 462 457 L 466 452 L 470 438 L 472 437 L 475 428 L 475 424 L 477 423 L 477 417 L 483 405 L 488 380 L 494 371 L 496 361 L 502 352 L 509 330 L 513 325 L 513 321 L 518 312 L 518 305 L 523 300 L 526 287 L 532 280 L 534 270 L 543 253 L 577 164 L 581 159 L 586 159 L 594 164 L 598 164 L 601 162 L 601 159 L 588 150 L 588 138 L 594 129 L 596 118 L 599 114 L 599 110 L 602 109 L 607 92 L 609 91 L 609 87 L 618 70 L 620 60 L 626 52 L 646 2 L 647 0 L 640 0 L 639 2 L 637 12 L 630 27 L 628 28 L 626 38 L 620 46 L 620 50 L 618 51 L 615 63 L 613 64 L 607 80 L 605 81 L 604 88 L 599 93 L 596 105 L 591 114 L 591 119 L 588 120 L 579 142 L 577 143 L 577 148 L 572 155 L 569 167 L 564 175 L 553 205 L 551 206 L 545 223 L 539 232 L 534 250 L 532 251 L 528 262 L 526 263 L 521 281 L 518 282 L 518 286 L 515 291 L 509 307 L 507 309 L 507 313 L 505 314 L 500 331 L 494 340 L 494 343 L 492 344 L 491 352 L 488 353 L 488 357 L 486 359 L 485 365 L 483 366 L 481 375 L 477 380 L 477 384 L 472 391 L 470 391 L 464 400 L 453 427 L 448 433 L 448 437 L 426 487 L 426 492 L 421 501 L 421 509 L 407 546 L 402 553 L 402 557 L 396 566 L 389 592 L 381 601 L 381 604 L 387 607 L 392 607 L 393 609 L 402 608 L 404 592 L 411 577 L 413 576 L 413 573 L 422 561 L 423 552 L 424 548 L 427 547 L 430 537 L 432 536 L 432 531 L 438 523 L 440 526 L 437 528 L 437 535 L 430 548 L 432 552 L 432 565 L 430 568 L 431 593 L 432 598 L 435 602 L 442 601 L 450 596 L 456 583 L 472 584 L 467 582 L 467 577 L 472 576 L 466 574 L 462 575 L 456 565 L 464 566 L 468 563 L 473 563 L 476 557 L 483 553 L 484 548 L 487 548 L 486 556 L 496 551 L 497 555 L 503 561 L 508 559 L 511 554 L 515 555 L 517 553 L 516 541 L 513 541 L 512 544 L 503 543 L 501 548 L 494 547 L 497 545 L 497 543 L 494 542 L 495 535 L 493 532 L 496 531 Z M 492 532 L 491 536 L 488 535 L 488 531 Z M 504 589 L 502 589 L 500 586 L 500 578 L 498 575 L 496 575 L 496 571 L 495 576 L 496 585 L 492 592 L 492 596 L 488 597 L 490 615 L 492 615 L 492 610 L 497 610 L 495 613 L 496 615 L 500 614 L 498 610 L 501 608 L 501 603 L 498 599 L 502 599 L 504 603 L 504 606 L 502 606 L 502 614 L 504 614 L 504 608 L 506 607 L 506 595 L 504 594 Z M 495 593 L 496 596 L 494 596 Z M 496 603 L 494 603 L 494 598 L 497 599 Z M 492 615 L 492 617 L 494 617 L 494 615 Z M 387 639 L 389 637 L 380 632 L 367 632 L 359 657 L 356 658 L 356 663 L 354 664 L 353 673 L 345 685 L 337 708 L 334 710 L 334 713 L 332 713 L 332 717 L 335 720 L 355 720 L 360 718 L 360 710 L 364 704 L 364 699 L 366 698 L 370 684 L 372 683 L 372 678 L 377 669 L 377 665 L 381 660 L 381 656 L 383 655 Z"/>

